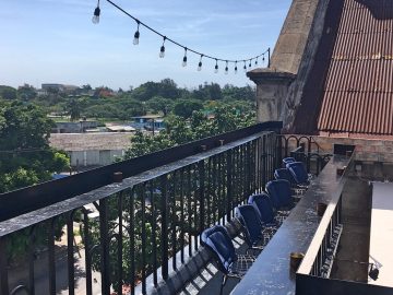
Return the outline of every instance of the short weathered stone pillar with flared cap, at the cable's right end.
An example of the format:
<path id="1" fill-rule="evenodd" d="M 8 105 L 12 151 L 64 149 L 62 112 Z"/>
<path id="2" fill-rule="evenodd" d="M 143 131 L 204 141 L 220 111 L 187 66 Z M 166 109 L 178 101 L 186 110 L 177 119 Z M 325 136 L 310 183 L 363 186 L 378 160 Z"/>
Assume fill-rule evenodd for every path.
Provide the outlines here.
<path id="1" fill-rule="evenodd" d="M 258 121 L 281 120 L 289 85 L 296 75 L 288 72 L 274 72 L 270 69 L 257 69 L 248 72 L 247 76 L 257 84 Z"/>

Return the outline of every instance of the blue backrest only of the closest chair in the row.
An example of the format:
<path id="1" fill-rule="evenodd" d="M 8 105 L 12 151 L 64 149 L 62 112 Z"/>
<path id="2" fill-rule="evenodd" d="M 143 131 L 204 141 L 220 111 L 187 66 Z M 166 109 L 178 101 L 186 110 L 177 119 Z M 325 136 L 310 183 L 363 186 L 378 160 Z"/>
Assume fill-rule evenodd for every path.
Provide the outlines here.
<path id="1" fill-rule="evenodd" d="M 223 273 L 228 273 L 237 256 L 227 229 L 223 225 L 214 225 L 203 231 L 201 240 L 214 255 L 218 269 Z"/>

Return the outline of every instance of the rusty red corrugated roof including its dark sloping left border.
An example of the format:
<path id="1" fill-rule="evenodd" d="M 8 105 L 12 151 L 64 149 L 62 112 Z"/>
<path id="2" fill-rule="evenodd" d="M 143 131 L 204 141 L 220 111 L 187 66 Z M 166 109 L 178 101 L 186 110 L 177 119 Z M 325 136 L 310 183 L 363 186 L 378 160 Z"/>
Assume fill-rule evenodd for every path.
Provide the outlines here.
<path id="1" fill-rule="evenodd" d="M 393 135 L 393 0 L 332 2 L 301 102 L 296 132 Z"/>

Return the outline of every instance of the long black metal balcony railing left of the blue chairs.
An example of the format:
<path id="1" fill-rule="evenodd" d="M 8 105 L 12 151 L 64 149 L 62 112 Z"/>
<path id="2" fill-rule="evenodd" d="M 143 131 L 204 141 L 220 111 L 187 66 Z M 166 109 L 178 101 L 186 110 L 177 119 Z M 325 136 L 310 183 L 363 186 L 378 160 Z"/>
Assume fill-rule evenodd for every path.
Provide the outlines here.
<path id="1" fill-rule="evenodd" d="M 147 278 L 155 286 L 166 280 L 198 249 L 204 228 L 229 221 L 273 177 L 281 154 L 276 133 L 265 131 L 272 128 L 279 126 L 1 194 L 0 293 L 122 294 L 129 285 L 134 294 L 139 284 L 146 294 Z"/>

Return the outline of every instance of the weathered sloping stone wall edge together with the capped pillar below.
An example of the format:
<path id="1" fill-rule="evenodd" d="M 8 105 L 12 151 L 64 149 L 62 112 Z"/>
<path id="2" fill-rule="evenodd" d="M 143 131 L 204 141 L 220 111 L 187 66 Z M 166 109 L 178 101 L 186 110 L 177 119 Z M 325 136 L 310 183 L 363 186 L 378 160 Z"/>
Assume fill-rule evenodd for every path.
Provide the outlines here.
<path id="1" fill-rule="evenodd" d="M 305 59 L 319 3 L 320 0 L 293 0 L 272 54 L 270 68 L 247 73 L 257 84 L 258 121 L 283 120 L 288 88 Z"/>

